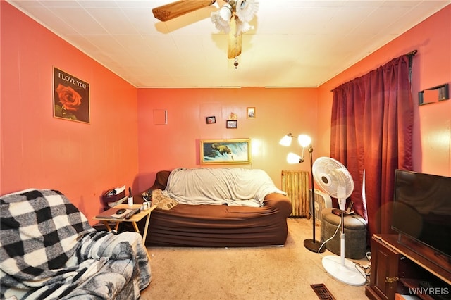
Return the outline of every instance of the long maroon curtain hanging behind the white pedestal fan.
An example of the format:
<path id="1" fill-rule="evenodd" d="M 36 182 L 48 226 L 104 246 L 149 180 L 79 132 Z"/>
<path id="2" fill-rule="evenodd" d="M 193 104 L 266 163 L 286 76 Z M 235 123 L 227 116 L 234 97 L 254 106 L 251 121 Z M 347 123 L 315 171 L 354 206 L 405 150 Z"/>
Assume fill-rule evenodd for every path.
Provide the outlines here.
<path id="1" fill-rule="evenodd" d="M 333 90 L 330 157 L 352 175 L 350 199 L 369 237 L 391 231 L 395 169 L 412 170 L 413 118 L 408 56 Z"/>

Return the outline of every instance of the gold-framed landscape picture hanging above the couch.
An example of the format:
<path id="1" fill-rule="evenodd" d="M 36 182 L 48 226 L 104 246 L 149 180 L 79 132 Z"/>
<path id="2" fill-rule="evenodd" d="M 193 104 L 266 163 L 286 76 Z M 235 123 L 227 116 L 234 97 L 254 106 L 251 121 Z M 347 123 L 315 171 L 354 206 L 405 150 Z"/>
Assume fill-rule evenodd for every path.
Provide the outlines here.
<path id="1" fill-rule="evenodd" d="M 200 163 L 251 163 L 250 139 L 209 139 L 200 141 Z"/>

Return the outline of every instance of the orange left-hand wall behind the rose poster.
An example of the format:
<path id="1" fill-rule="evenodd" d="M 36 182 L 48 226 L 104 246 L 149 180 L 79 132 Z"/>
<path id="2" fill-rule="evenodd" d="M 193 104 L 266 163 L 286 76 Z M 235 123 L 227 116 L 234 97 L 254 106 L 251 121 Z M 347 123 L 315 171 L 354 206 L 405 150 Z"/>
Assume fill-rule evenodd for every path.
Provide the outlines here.
<path id="1" fill-rule="evenodd" d="M 90 84 L 90 124 L 53 118 L 53 66 Z M 58 189 L 90 219 L 137 174 L 137 89 L 1 1 L 0 194 Z"/>

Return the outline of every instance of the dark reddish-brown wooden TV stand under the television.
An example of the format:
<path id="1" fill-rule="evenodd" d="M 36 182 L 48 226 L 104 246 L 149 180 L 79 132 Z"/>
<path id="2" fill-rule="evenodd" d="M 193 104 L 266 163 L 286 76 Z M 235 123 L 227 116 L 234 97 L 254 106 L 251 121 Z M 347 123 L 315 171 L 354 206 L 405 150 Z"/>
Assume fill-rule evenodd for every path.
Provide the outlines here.
<path id="1" fill-rule="evenodd" d="M 424 282 L 431 282 L 428 289 L 420 285 Z M 370 284 L 365 294 L 369 299 L 394 300 L 396 293 L 451 299 L 450 261 L 411 239 L 403 237 L 400 243 L 398 235 L 373 235 Z"/>

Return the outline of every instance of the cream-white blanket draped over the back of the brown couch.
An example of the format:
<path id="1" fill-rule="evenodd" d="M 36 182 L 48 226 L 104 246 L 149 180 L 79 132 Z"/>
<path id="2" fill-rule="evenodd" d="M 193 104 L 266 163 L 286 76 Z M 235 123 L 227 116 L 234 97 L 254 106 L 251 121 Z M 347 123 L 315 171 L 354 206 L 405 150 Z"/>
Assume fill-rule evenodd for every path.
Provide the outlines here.
<path id="1" fill-rule="evenodd" d="M 166 186 L 168 196 L 180 204 L 263 206 L 267 194 L 278 189 L 264 170 L 243 168 L 178 168 Z"/>

